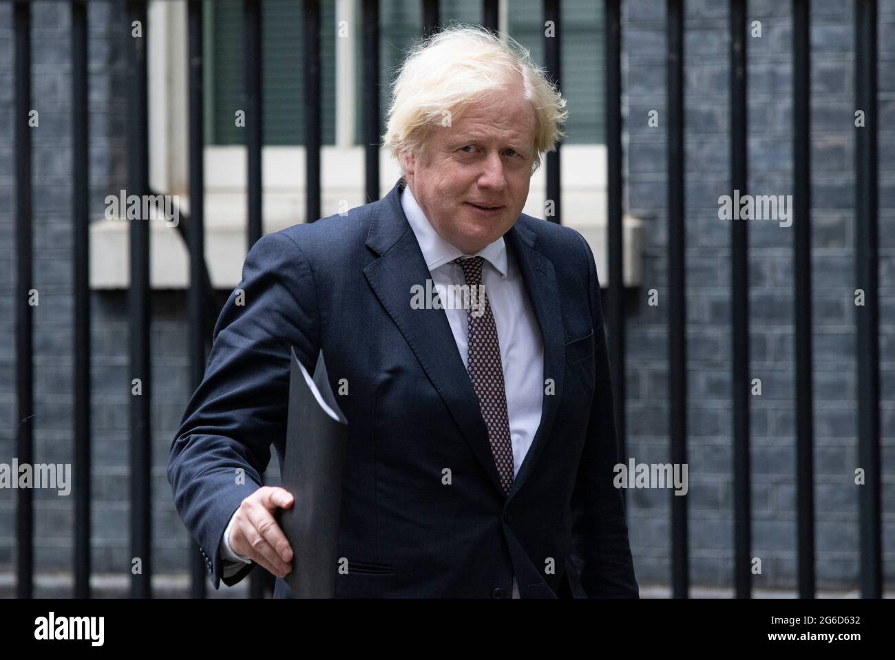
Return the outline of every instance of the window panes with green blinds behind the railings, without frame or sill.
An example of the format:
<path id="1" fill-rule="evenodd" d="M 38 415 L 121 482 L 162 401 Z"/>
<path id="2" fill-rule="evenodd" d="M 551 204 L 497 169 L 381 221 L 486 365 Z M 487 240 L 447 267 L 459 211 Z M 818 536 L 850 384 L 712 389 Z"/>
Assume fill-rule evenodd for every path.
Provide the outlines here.
<path id="1" fill-rule="evenodd" d="M 360 72 L 360 0 L 350 0 L 356 21 L 354 72 Z M 544 26 L 541 0 L 512 0 L 508 13 L 509 34 L 532 52 L 535 62 L 543 62 Z M 244 135 L 234 125 L 234 113 L 244 105 L 243 82 L 243 3 L 223 0 L 207 3 L 206 10 L 206 143 L 243 144 Z M 264 143 L 303 144 L 303 29 L 302 4 L 262 2 L 262 62 L 264 95 Z M 569 121 L 567 144 L 602 143 L 605 131 L 601 95 L 604 76 L 602 7 L 592 0 L 567 0 L 563 4 L 562 70 L 563 94 L 567 98 Z M 445 0 L 441 21 L 477 23 L 482 18 L 480 3 Z M 420 37 L 422 8 L 419 0 L 382 0 L 380 13 L 380 108 L 385 131 L 389 87 L 405 50 Z M 334 145 L 337 114 L 336 0 L 320 3 L 320 109 L 324 145 Z M 354 135 L 360 144 L 362 123 L 362 80 L 354 76 Z"/>

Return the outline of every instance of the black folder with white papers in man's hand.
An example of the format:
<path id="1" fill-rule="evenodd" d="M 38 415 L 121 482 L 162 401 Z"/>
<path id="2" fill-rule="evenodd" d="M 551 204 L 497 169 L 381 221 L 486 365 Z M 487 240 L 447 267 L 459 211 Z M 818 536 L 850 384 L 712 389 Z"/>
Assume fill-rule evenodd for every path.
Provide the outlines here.
<path id="1" fill-rule="evenodd" d="M 329 388 L 323 353 L 311 377 L 293 349 L 280 476 L 294 503 L 277 509 L 277 521 L 292 546 L 292 572 L 286 583 L 296 598 L 336 597 L 347 424 Z"/>

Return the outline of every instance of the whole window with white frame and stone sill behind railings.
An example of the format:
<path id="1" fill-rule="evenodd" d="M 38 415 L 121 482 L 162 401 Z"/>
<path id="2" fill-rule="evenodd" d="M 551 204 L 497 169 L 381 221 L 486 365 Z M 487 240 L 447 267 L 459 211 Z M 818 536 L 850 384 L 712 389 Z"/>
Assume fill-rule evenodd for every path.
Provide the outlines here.
<path id="1" fill-rule="evenodd" d="M 234 113 L 243 106 L 242 0 L 205 4 L 205 225 L 206 261 L 213 285 L 239 282 L 246 253 L 246 150 Z M 264 94 L 264 231 L 276 232 L 304 222 L 303 47 L 301 0 L 262 0 Z M 442 0 L 441 22 L 475 23 L 482 6 L 468 0 Z M 501 0 L 500 26 L 542 61 L 544 27 L 541 0 Z M 419 0 L 380 0 L 380 107 L 388 108 L 389 83 L 405 50 L 422 31 Z M 321 183 L 322 214 L 363 203 L 361 122 L 360 0 L 321 0 Z M 337 38 L 345 21 L 349 38 Z M 189 213 L 187 171 L 186 4 L 154 0 L 149 4 L 149 181 L 153 190 L 179 196 Z M 563 223 L 591 243 L 601 283 L 605 272 L 606 149 L 603 87 L 602 4 L 592 0 L 563 3 L 563 93 L 569 121 L 561 151 Z M 383 150 L 379 157 L 381 192 L 398 176 L 396 163 Z M 545 168 L 534 174 L 524 212 L 544 216 Z M 94 288 L 122 288 L 128 282 L 127 223 L 98 219 L 91 223 L 90 281 Z M 183 288 L 188 259 L 183 241 L 164 223 L 151 228 L 150 279 L 154 288 Z M 626 219 L 626 283 L 639 281 L 640 224 Z"/>

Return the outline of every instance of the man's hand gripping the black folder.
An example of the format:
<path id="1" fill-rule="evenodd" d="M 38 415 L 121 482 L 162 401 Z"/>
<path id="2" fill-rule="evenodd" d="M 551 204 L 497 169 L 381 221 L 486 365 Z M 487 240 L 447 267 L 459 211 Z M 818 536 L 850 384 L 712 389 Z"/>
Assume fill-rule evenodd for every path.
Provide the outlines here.
<path id="1" fill-rule="evenodd" d="M 274 520 L 277 507 L 288 509 L 295 498 L 285 488 L 262 486 L 234 513 L 227 541 L 236 554 L 249 557 L 279 578 L 292 571 L 292 547 Z"/>

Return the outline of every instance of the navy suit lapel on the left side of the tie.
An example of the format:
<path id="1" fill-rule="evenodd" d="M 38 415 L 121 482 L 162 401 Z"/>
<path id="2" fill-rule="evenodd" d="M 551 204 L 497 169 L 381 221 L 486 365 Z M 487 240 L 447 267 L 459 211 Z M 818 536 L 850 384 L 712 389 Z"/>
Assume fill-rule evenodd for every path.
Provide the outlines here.
<path id="1" fill-rule="evenodd" d="M 444 309 L 412 309 L 411 288 L 431 278 L 416 236 L 401 207 L 404 181 L 375 205 L 367 245 L 379 258 L 363 269 L 373 292 L 404 334 L 432 385 L 495 487 L 500 478 L 482 419 L 479 398 L 466 372 Z"/>

